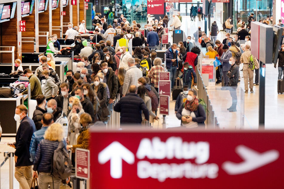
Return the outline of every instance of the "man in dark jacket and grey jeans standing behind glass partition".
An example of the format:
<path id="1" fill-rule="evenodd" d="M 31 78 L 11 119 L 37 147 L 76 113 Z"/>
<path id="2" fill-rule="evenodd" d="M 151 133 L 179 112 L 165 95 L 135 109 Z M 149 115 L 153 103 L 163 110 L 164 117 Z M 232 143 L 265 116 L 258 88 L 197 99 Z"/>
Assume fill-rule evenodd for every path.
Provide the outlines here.
<path id="1" fill-rule="evenodd" d="M 231 68 L 230 68 L 230 71 L 228 71 L 227 73 L 227 76 L 229 78 L 229 91 L 232 97 L 232 106 L 227 109 L 230 112 L 237 111 L 236 107 L 237 107 L 237 102 L 238 102 L 237 87 L 238 87 L 240 71 L 239 71 L 239 67 L 235 64 L 235 62 L 236 62 L 236 58 L 231 57 L 229 61 L 229 64 L 231 64 Z"/>

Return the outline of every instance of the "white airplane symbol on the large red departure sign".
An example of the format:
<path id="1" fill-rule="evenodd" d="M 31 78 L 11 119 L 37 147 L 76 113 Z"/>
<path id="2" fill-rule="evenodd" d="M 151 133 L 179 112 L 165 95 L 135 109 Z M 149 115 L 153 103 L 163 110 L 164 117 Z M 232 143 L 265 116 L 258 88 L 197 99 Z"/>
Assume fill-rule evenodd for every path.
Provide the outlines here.
<path id="1" fill-rule="evenodd" d="M 244 145 L 236 147 L 236 153 L 244 160 L 240 163 L 226 161 L 223 163 L 222 168 L 229 175 L 238 175 L 248 173 L 271 162 L 274 162 L 279 157 L 277 150 L 269 150 L 263 153 L 254 151 Z"/>

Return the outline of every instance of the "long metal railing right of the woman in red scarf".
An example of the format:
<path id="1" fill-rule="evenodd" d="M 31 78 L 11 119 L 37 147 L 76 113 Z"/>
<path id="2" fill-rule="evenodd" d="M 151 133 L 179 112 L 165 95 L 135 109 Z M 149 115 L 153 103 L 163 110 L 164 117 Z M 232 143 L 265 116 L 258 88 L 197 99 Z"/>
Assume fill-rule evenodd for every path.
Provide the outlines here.
<path id="1" fill-rule="evenodd" d="M 204 85 L 203 79 L 200 75 L 199 68 L 196 66 L 196 77 L 197 77 L 197 89 L 198 91 L 198 98 L 203 98 L 206 103 L 206 120 L 205 125 L 206 128 L 219 128 L 219 123 L 217 120 L 217 116 L 215 115 L 215 111 L 213 110 L 213 106 L 211 104 L 211 100 L 209 99 L 209 95 L 207 89 Z"/>

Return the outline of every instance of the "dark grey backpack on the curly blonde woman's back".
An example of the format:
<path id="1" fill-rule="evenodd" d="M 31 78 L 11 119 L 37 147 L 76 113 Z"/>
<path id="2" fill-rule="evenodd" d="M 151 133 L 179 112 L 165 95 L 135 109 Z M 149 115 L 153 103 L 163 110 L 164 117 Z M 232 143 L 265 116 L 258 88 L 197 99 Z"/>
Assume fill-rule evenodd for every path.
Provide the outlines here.
<path id="1" fill-rule="evenodd" d="M 72 164 L 68 152 L 60 141 L 51 157 L 50 175 L 56 179 L 65 180 L 71 175 Z"/>

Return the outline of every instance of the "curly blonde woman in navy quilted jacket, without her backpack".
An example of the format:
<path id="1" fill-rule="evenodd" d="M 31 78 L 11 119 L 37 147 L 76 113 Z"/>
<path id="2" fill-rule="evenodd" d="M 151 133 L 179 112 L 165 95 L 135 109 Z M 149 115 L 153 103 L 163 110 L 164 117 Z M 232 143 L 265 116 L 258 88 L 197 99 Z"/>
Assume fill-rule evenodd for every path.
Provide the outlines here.
<path id="1" fill-rule="evenodd" d="M 39 143 L 36 149 L 35 160 L 33 163 L 33 177 L 39 178 L 39 186 L 41 189 L 47 189 L 50 185 L 51 189 L 59 188 L 61 179 L 50 176 L 51 160 L 54 151 L 60 146 L 66 150 L 63 141 L 64 131 L 62 125 L 53 123 L 48 126 L 44 133 L 44 139 Z M 66 151 L 67 153 L 67 151 Z M 38 173 L 36 173 L 36 171 Z M 70 177 L 67 179 L 67 183 Z"/>

